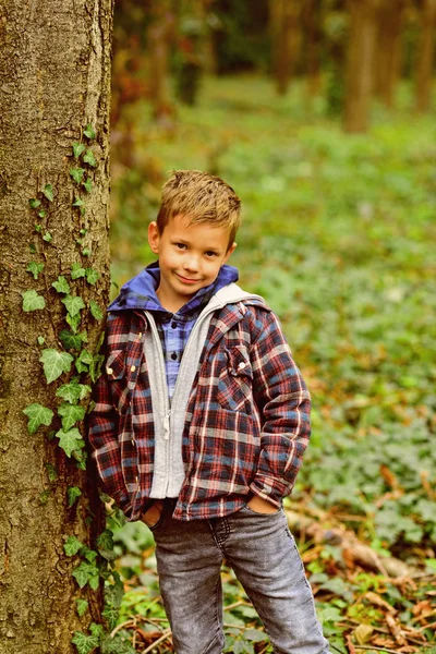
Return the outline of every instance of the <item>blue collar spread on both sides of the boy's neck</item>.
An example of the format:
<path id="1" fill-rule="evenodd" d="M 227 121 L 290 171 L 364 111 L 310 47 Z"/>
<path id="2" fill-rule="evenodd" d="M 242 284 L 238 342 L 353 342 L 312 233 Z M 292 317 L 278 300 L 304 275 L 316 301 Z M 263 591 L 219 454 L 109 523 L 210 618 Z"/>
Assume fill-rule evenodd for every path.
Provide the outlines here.
<path id="1" fill-rule="evenodd" d="M 180 313 L 187 313 L 193 308 L 192 305 L 198 305 L 198 302 L 202 302 L 203 299 L 206 300 L 205 296 L 209 299 L 217 291 L 232 282 L 235 282 L 238 279 L 238 269 L 233 266 L 225 264 L 221 266 L 218 277 L 214 283 L 199 289 L 199 291 L 197 291 L 197 293 L 195 293 L 195 295 L 180 308 Z M 159 262 L 155 262 L 124 283 L 124 286 L 121 288 L 120 294 L 113 300 L 113 302 L 111 302 L 108 311 L 140 310 L 165 311 L 168 313 L 167 310 L 162 307 L 158 296 L 156 295 L 156 289 L 158 288 L 159 282 Z"/>

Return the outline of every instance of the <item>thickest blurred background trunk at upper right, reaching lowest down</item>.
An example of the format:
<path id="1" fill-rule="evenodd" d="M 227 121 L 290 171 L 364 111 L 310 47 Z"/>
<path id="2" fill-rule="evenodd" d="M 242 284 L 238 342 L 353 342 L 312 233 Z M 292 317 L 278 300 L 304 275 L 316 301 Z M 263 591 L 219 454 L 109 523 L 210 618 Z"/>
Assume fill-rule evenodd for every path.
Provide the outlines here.
<path id="1" fill-rule="evenodd" d="M 350 35 L 343 120 L 346 132 L 365 132 L 368 128 L 378 3 L 379 0 L 349 0 Z"/>

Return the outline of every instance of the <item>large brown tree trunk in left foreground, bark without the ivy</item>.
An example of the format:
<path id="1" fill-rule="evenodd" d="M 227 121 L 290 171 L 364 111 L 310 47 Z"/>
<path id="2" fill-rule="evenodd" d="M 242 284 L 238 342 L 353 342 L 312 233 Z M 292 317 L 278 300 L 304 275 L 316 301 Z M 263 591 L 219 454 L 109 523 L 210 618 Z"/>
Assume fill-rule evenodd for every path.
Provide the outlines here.
<path id="1" fill-rule="evenodd" d="M 62 428 L 56 415 L 62 403 L 69 410 L 69 402 L 56 397 L 56 390 L 78 373 L 73 363 L 71 373 L 48 383 L 40 358 L 47 355 L 45 350 L 51 350 L 51 355 L 62 353 L 66 368 L 81 347 L 61 342 L 60 331 L 68 329 L 70 338 L 81 342 L 86 330 L 90 353 L 101 331 L 89 302 L 104 308 L 109 288 L 111 23 L 112 0 L 0 0 L 2 654 L 72 654 L 73 632 L 99 621 L 101 593 L 88 585 L 80 590 L 72 577 L 80 558 L 66 556 L 63 548 L 73 535 L 90 546 L 90 532 L 101 522 L 96 485 L 77 467 L 77 460 L 84 467 L 83 444 L 75 431 L 82 423 L 76 416 L 74 426 L 65 422 Z M 95 137 L 87 124 L 95 129 Z M 78 153 L 76 146 L 76 158 L 73 143 L 86 147 Z M 69 172 L 73 168 L 84 171 L 75 173 L 82 174 L 77 182 Z M 97 281 L 94 270 L 99 274 Z M 82 272 L 85 277 L 73 279 Z M 64 276 L 70 292 L 62 280 L 61 293 L 51 286 L 59 276 Z M 34 299 L 40 296 L 36 303 L 44 301 L 45 308 L 23 311 L 23 302 L 33 302 L 28 291 L 34 291 Z M 24 299 L 23 293 L 27 293 Z M 70 306 L 71 327 L 61 299 L 77 304 L 73 295 L 83 298 L 84 308 L 78 324 Z M 98 315 L 95 307 L 93 314 Z M 93 361 L 92 365 L 97 359 Z M 82 370 L 87 367 L 85 362 Z M 34 403 L 53 411 L 50 427 L 37 429 L 32 420 L 28 423 L 23 410 Z M 82 415 L 80 407 L 78 408 Z M 56 434 L 51 439 L 49 428 Z M 61 435 L 71 431 L 63 436 L 75 443 L 69 457 L 59 445 Z M 73 495 L 68 499 L 72 487 L 77 489 L 73 495 L 82 491 L 75 501 Z M 82 618 L 77 598 L 89 603 Z"/>

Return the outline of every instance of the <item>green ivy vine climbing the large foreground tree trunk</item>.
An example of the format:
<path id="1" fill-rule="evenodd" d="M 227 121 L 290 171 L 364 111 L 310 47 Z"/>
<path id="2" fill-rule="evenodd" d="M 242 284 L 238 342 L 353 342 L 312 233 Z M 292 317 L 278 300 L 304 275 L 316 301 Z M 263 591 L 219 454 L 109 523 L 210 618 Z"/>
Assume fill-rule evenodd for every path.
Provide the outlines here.
<path id="1" fill-rule="evenodd" d="M 87 410 L 92 408 L 89 396 L 92 387 L 87 384 L 89 379 L 95 383 L 100 374 L 104 356 L 99 353 L 102 343 L 102 334 L 97 343 L 95 352 L 90 352 L 87 344 L 87 332 L 81 330 L 82 311 L 86 308 L 86 303 L 78 294 L 77 280 L 89 286 L 96 284 L 99 279 L 99 272 L 87 263 L 83 263 L 92 254 L 90 247 L 86 244 L 87 229 L 83 223 L 86 215 L 86 195 L 93 190 L 93 172 L 97 168 L 97 161 L 92 148 L 96 140 L 95 129 L 88 124 L 83 130 L 80 142 L 72 144 L 73 166 L 70 168 L 70 177 L 74 182 L 74 199 L 72 208 L 77 211 L 80 217 L 80 228 L 76 232 L 75 243 L 80 251 L 80 261 L 72 264 L 71 269 L 59 275 L 56 280 L 49 283 L 46 277 L 46 262 L 49 256 L 49 247 L 52 235 L 48 229 L 48 218 L 52 203 L 55 202 L 55 191 L 51 184 L 46 184 L 38 192 L 37 197 L 28 201 L 31 210 L 35 214 L 35 242 L 29 244 L 32 255 L 39 255 L 43 261 L 29 261 L 26 271 L 33 276 L 33 279 L 40 282 L 43 279 L 44 290 L 40 288 L 29 289 L 22 293 L 24 312 L 46 311 L 49 314 L 51 325 L 57 335 L 56 347 L 44 347 L 46 339 L 44 336 L 37 337 L 38 346 L 41 348 L 39 361 L 43 364 L 44 375 L 47 385 L 56 382 L 60 385 L 56 388 L 55 396 L 59 400 L 56 408 L 56 414 L 52 409 L 44 407 L 38 402 L 28 404 L 23 413 L 27 416 L 27 429 L 31 435 L 36 434 L 39 427 L 47 427 L 48 437 L 56 439 L 57 445 L 63 450 L 77 469 L 86 470 L 86 448 L 81 434 L 81 425 L 85 419 Z M 66 326 L 59 334 L 52 322 L 50 307 L 47 305 L 49 293 L 55 289 L 60 302 L 64 306 L 64 320 Z M 102 320 L 104 310 L 98 302 L 90 300 L 88 303 L 89 314 L 97 322 Z M 50 431 L 52 425 L 56 428 Z M 51 463 L 46 463 L 46 471 L 50 484 L 58 480 L 58 471 Z M 40 495 L 40 501 L 45 504 L 51 493 L 51 488 L 44 491 Z M 72 508 L 82 497 L 82 491 L 77 486 L 69 486 L 66 491 L 66 502 Z M 101 496 L 101 500 L 107 502 L 109 498 Z M 112 517 L 117 516 L 117 509 Z M 92 517 L 89 518 L 92 519 Z M 117 517 L 114 518 L 117 519 Z M 100 647 L 101 654 L 129 654 L 133 652 L 129 643 L 123 643 L 121 639 L 112 639 L 110 632 L 114 629 L 118 620 L 119 607 L 123 595 L 123 585 L 117 571 L 113 569 L 113 538 L 112 531 L 105 529 L 96 541 L 96 549 L 90 549 L 87 545 L 81 543 L 74 535 L 65 535 L 64 553 L 68 557 L 76 557 L 78 562 L 73 569 L 73 577 L 80 589 L 88 585 L 96 591 L 100 585 L 100 580 L 105 581 L 105 607 L 102 611 L 104 625 L 92 622 L 89 633 L 75 631 L 72 643 L 75 645 L 78 654 L 90 654 L 96 647 Z M 88 609 L 88 602 L 82 597 L 76 601 L 76 613 L 83 617 Z"/>

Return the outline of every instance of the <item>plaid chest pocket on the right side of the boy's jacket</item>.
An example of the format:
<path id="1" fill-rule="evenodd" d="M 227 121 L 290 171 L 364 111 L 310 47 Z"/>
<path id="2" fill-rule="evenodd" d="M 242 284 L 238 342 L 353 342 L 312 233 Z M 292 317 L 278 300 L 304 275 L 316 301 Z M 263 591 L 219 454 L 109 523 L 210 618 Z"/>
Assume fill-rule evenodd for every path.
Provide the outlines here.
<path id="1" fill-rule="evenodd" d="M 226 365 L 218 379 L 217 400 L 228 411 L 252 413 L 253 371 L 243 346 L 226 348 Z"/>

